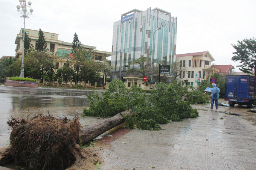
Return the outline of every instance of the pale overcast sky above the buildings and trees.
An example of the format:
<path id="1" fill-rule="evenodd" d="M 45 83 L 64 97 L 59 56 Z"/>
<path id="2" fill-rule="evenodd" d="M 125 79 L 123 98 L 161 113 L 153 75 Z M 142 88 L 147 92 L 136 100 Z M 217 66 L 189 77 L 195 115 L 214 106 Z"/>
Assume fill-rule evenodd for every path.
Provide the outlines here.
<path id="1" fill-rule="evenodd" d="M 132 9 L 160 8 L 177 17 L 176 54 L 209 51 L 215 65 L 233 62 L 231 44 L 256 37 L 256 0 L 30 0 L 33 15 L 27 29 L 59 34 L 72 42 L 74 33 L 84 45 L 111 52 L 113 23 Z M 15 56 L 15 38 L 23 28 L 18 0 L 0 0 L 0 57 Z M 28 2 L 28 0 L 27 0 Z M 236 71 L 239 71 L 235 67 Z"/>

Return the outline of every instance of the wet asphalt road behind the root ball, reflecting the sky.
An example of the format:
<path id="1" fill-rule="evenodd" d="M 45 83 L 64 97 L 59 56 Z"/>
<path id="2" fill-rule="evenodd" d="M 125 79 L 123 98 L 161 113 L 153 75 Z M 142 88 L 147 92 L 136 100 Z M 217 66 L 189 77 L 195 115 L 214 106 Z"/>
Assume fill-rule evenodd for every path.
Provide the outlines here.
<path id="1" fill-rule="evenodd" d="M 30 113 L 46 114 L 48 110 L 56 117 L 82 115 L 91 91 L 0 86 L 0 147 L 8 145 L 11 130 L 6 122 L 11 116 L 23 118 Z"/>

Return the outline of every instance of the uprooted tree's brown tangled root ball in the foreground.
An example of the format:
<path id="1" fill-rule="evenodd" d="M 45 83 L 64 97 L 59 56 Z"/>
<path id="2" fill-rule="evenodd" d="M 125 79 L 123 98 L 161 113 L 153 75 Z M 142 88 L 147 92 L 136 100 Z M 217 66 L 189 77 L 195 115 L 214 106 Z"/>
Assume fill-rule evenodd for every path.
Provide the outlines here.
<path id="1" fill-rule="evenodd" d="M 64 170 L 80 153 L 78 116 L 57 119 L 48 113 L 34 119 L 8 121 L 12 128 L 10 146 L 15 164 L 29 170 Z"/>

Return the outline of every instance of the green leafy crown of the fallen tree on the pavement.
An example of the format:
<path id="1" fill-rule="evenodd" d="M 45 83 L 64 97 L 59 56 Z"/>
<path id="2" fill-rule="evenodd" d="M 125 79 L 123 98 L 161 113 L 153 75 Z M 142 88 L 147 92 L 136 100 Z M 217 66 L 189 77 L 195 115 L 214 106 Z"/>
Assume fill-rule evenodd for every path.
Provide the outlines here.
<path id="1" fill-rule="evenodd" d="M 189 102 L 183 101 L 177 93 L 183 93 L 183 89 L 187 92 L 187 87 L 178 86 L 177 82 L 171 85 L 158 83 L 146 98 L 139 86 L 133 85 L 131 89 L 126 89 L 122 81 L 114 80 L 106 92 L 102 92 L 102 96 L 94 92 L 88 96 L 90 108 L 84 109 L 83 113 L 84 116 L 110 117 L 128 110 L 134 112 L 132 115 L 123 115 L 128 118 L 130 128 L 136 122 L 139 129 L 158 130 L 161 129 L 159 123 L 166 124 L 170 120 L 182 121 L 184 118 L 198 116 L 197 110 Z"/>

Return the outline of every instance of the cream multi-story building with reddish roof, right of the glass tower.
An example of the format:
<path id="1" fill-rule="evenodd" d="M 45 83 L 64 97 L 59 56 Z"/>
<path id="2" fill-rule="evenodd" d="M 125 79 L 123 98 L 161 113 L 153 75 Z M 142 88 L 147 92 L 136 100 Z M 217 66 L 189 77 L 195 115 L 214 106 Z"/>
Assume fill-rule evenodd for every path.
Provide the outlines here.
<path id="1" fill-rule="evenodd" d="M 215 61 L 215 59 L 212 57 L 209 51 L 177 54 L 176 62 L 180 62 L 181 66 L 187 68 L 187 73 L 185 71 L 180 73 L 179 78 L 183 78 L 183 80 L 188 80 L 187 85 L 197 88 L 198 86 L 200 86 L 202 81 L 206 80 L 209 74 L 207 71 L 209 71 L 209 68 L 212 65 L 212 61 Z M 200 82 L 195 82 L 196 73 L 199 74 Z"/>

